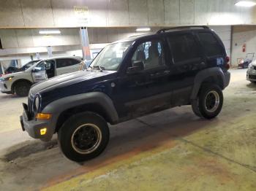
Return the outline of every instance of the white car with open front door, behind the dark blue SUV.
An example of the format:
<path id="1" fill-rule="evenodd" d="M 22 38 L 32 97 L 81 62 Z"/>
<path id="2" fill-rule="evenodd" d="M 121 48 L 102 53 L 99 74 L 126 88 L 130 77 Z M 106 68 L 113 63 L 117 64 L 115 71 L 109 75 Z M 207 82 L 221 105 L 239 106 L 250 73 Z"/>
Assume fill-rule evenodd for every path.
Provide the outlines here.
<path id="1" fill-rule="evenodd" d="M 26 71 L 7 74 L 0 78 L 1 93 L 26 96 L 31 85 L 45 79 L 67 74 L 80 69 L 80 57 L 48 58 L 35 63 Z"/>

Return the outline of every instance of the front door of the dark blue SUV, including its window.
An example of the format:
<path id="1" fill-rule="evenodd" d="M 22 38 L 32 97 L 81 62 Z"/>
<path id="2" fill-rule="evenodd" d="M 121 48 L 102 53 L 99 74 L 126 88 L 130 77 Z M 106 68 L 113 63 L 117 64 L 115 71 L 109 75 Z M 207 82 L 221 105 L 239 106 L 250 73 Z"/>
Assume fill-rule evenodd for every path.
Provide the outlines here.
<path id="1" fill-rule="evenodd" d="M 143 69 L 118 79 L 113 96 L 119 117 L 138 117 L 170 106 L 170 67 L 165 64 L 164 47 L 162 39 L 148 39 L 135 44 L 135 51 L 128 62 L 130 66 L 143 63 Z"/>

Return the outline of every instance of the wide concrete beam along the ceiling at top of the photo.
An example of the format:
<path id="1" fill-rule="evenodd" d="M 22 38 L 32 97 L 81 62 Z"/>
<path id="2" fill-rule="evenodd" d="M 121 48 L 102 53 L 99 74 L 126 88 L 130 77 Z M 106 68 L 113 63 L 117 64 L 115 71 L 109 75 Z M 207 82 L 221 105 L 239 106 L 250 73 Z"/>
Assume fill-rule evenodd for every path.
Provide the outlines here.
<path id="1" fill-rule="evenodd" d="M 0 28 L 252 23 L 234 0 L 0 0 Z"/>

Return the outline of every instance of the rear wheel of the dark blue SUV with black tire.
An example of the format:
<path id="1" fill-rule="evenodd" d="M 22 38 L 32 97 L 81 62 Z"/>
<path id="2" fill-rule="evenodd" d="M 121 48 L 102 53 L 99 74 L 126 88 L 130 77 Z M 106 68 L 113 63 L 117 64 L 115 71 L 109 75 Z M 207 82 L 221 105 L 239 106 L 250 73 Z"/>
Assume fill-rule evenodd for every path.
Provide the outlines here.
<path id="1" fill-rule="evenodd" d="M 197 99 L 192 101 L 192 110 L 198 117 L 212 119 L 222 110 L 223 94 L 218 85 L 203 85 Z"/>

